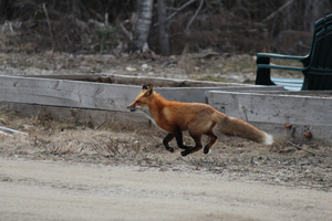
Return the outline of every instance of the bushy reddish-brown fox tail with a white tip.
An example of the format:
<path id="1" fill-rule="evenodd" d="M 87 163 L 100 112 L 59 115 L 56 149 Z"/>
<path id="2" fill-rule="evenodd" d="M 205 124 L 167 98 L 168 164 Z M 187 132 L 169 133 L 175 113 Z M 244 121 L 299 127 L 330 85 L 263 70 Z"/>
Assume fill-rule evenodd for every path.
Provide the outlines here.
<path id="1" fill-rule="evenodd" d="M 264 145 L 273 144 L 273 137 L 268 133 L 256 128 L 255 126 L 242 119 L 229 117 L 221 113 L 219 115 L 219 124 L 217 126 L 220 133 L 226 135 L 235 135 L 243 138 L 249 138 Z"/>

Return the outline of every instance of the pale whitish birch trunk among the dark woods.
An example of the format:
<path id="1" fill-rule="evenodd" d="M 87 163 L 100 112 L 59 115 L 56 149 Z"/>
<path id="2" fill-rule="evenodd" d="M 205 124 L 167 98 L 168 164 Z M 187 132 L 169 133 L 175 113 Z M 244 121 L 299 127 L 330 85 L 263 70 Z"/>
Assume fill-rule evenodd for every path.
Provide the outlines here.
<path id="1" fill-rule="evenodd" d="M 137 18 L 133 31 L 131 52 L 142 51 L 147 41 L 153 17 L 154 0 L 137 0 Z"/>

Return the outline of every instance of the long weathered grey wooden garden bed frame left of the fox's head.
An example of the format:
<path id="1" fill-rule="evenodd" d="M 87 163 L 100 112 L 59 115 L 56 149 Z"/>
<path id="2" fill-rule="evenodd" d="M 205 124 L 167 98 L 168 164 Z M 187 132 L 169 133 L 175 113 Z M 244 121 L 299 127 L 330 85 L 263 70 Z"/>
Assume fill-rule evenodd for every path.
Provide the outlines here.
<path id="1" fill-rule="evenodd" d="M 127 84 L 103 83 L 100 81 L 101 77 L 104 82 L 106 78 L 116 78 L 116 82 Z M 66 120 L 80 119 L 94 125 L 113 119 L 133 126 L 151 126 L 147 118 L 137 113 L 129 113 L 126 108 L 142 90 L 142 85 L 132 85 L 133 78 L 133 76 L 121 75 L 0 76 L 0 102 L 27 116 L 43 115 Z M 283 90 L 278 86 L 266 87 L 160 77 L 138 78 L 139 81 L 135 80 L 135 83 L 153 83 L 156 92 L 168 99 L 180 102 L 207 103 L 205 93 L 211 90 Z M 158 87 L 160 85 L 163 87 Z M 170 87 L 169 85 L 180 86 Z"/>

